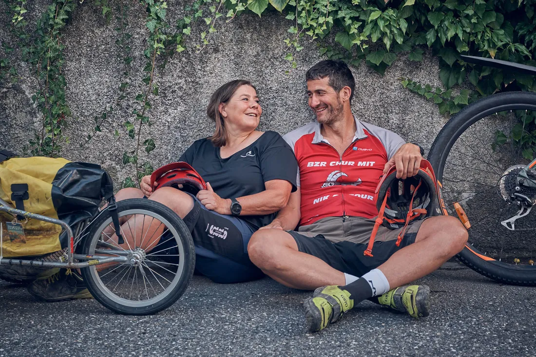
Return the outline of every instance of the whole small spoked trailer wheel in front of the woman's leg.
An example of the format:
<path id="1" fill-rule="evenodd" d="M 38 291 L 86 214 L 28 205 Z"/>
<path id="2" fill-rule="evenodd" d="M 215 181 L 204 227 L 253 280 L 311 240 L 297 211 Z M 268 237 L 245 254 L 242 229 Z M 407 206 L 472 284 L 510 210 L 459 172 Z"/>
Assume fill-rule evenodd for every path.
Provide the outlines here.
<path id="1" fill-rule="evenodd" d="M 84 281 L 93 297 L 116 313 L 158 313 L 181 297 L 192 277 L 195 252 L 190 232 L 175 212 L 151 200 L 122 200 L 117 212 L 125 243 L 114 241 L 114 224 L 105 210 L 92 222 L 81 251 L 89 256 L 128 256 L 136 263 L 89 266 L 82 269 Z"/>

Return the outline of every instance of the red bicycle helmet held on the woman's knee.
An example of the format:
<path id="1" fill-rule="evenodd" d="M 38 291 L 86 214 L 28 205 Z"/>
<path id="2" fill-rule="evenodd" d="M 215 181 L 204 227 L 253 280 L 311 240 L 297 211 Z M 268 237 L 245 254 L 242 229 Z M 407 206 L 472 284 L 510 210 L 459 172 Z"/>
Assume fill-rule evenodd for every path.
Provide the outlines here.
<path id="1" fill-rule="evenodd" d="M 157 183 L 156 187 L 154 183 Z M 180 161 L 168 163 L 151 174 L 151 187 L 158 190 L 161 187 L 175 187 L 182 185 L 181 191 L 196 195 L 199 190 L 206 190 L 206 183 L 188 163 Z"/>

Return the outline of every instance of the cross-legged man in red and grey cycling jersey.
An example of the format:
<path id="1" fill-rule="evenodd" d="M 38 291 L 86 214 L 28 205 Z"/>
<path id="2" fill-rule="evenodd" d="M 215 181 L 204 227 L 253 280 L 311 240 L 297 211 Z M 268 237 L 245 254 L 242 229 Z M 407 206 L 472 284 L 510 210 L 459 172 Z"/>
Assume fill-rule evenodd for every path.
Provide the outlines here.
<path id="1" fill-rule="evenodd" d="M 252 237 L 251 261 L 281 284 L 316 289 L 303 302 L 311 332 L 366 299 L 415 318 L 427 316 L 429 288 L 404 284 L 463 249 L 467 231 L 456 218 L 431 217 L 408 226 L 397 246 L 400 230 L 380 226 L 374 256 L 364 255 L 378 214 L 379 177 L 393 166 L 397 178 L 416 175 L 422 149 L 352 115 L 355 83 L 343 62 L 319 62 L 306 80 L 317 122 L 284 137 L 298 161 L 298 190 Z"/>

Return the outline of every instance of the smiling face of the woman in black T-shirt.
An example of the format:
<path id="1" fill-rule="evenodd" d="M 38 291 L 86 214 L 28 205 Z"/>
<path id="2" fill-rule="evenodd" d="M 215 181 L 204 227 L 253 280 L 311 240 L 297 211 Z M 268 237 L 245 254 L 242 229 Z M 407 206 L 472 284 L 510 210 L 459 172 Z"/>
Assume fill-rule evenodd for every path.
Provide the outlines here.
<path id="1" fill-rule="evenodd" d="M 239 131 L 255 130 L 263 112 L 257 92 L 249 85 L 238 87 L 229 101 L 220 105 L 220 111 L 227 125 Z"/>

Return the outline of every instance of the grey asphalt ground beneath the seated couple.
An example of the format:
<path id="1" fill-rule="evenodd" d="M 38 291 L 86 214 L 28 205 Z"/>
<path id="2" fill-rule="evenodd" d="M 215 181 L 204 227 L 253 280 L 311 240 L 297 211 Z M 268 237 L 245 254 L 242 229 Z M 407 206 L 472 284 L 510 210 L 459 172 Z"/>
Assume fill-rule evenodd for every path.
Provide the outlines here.
<path id="1" fill-rule="evenodd" d="M 154 316 L 116 315 L 95 300 L 46 303 L 0 281 L 3 356 L 536 356 L 536 288 L 498 284 L 460 263 L 420 279 L 419 320 L 365 301 L 306 332 L 310 292 L 265 278 L 219 285 L 195 276 Z"/>

